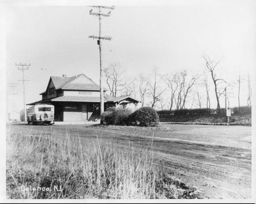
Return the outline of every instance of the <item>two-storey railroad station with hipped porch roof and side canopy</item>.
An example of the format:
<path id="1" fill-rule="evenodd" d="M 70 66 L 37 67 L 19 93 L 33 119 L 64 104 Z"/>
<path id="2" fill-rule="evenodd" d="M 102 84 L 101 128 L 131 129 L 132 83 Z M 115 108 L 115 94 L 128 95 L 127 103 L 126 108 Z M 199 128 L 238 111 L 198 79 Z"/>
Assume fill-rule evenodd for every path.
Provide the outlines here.
<path id="1" fill-rule="evenodd" d="M 104 111 L 109 107 L 125 107 L 133 103 L 135 107 L 140 102 L 130 96 L 113 97 L 105 93 Z M 96 121 L 100 118 L 100 90 L 99 85 L 84 74 L 74 77 L 50 77 L 41 101 L 29 103 L 47 103 L 54 105 L 55 121 Z"/>

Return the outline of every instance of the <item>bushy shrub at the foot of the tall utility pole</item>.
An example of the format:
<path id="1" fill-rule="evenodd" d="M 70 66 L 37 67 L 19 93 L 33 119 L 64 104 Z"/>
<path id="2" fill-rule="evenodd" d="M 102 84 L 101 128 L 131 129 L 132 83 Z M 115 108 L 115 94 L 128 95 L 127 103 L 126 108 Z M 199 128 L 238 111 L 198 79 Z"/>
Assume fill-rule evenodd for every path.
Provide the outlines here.
<path id="1" fill-rule="evenodd" d="M 128 125 L 131 110 L 128 108 L 108 108 L 101 114 L 101 121 L 107 125 Z"/>

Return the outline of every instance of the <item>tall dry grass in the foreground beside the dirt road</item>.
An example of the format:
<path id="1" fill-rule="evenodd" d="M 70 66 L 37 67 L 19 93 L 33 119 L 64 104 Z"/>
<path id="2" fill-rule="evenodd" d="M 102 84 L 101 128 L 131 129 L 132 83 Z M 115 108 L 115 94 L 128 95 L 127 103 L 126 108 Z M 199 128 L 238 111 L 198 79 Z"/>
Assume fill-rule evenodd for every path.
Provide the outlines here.
<path id="1" fill-rule="evenodd" d="M 7 198 L 200 198 L 196 188 L 154 165 L 152 148 L 135 154 L 98 138 L 68 133 L 60 138 L 54 132 L 31 134 L 11 127 L 7 132 Z"/>

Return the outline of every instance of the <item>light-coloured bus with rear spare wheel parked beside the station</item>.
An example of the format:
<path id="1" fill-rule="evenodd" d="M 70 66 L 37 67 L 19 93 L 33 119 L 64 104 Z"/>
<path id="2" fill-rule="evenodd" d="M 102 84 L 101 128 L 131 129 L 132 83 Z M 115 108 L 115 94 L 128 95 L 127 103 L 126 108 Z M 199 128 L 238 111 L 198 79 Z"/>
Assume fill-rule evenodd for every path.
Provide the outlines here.
<path id="1" fill-rule="evenodd" d="M 51 104 L 37 103 L 27 111 L 27 123 L 36 124 L 53 124 L 54 106 Z"/>

